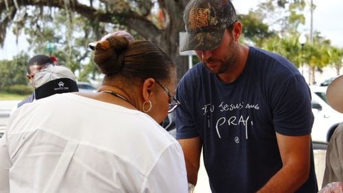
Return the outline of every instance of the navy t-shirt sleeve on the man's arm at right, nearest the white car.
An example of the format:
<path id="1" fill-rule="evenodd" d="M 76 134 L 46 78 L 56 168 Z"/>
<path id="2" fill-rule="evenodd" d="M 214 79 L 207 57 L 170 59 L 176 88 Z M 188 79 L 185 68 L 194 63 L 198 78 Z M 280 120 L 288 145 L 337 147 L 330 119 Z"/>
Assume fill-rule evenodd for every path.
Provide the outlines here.
<path id="1" fill-rule="evenodd" d="M 286 136 L 311 133 L 314 115 L 311 92 L 301 75 L 289 77 L 272 99 L 273 123 L 276 132 Z"/>

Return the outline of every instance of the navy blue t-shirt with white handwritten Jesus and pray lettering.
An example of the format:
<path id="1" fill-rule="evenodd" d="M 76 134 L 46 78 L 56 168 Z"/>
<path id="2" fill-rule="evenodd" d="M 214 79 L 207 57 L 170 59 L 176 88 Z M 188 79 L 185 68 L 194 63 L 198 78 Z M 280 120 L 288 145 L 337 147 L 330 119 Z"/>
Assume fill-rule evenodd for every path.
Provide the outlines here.
<path id="1" fill-rule="evenodd" d="M 309 87 L 296 67 L 254 47 L 234 82 L 222 83 L 197 64 L 176 95 L 176 138 L 201 138 L 212 192 L 259 190 L 282 167 L 276 132 L 307 135 L 314 122 Z M 313 160 L 311 151 L 310 176 L 298 192 L 318 191 Z"/>

